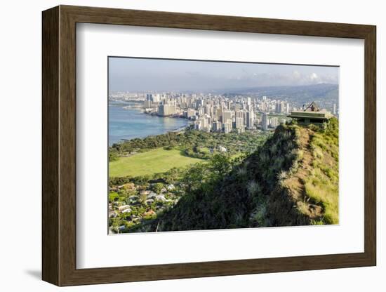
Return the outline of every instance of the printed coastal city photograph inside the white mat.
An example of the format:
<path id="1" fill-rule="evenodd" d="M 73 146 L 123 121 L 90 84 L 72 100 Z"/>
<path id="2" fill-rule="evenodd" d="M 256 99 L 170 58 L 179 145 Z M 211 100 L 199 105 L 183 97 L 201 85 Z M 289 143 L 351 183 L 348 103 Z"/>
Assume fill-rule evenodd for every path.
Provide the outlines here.
<path id="1" fill-rule="evenodd" d="M 339 224 L 339 66 L 107 62 L 108 234 Z"/>

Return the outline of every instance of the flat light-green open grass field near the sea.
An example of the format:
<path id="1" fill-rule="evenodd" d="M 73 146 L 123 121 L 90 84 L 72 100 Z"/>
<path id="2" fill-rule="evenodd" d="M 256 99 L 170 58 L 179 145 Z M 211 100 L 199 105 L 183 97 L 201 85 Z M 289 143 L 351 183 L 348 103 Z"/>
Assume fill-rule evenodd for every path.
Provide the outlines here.
<path id="1" fill-rule="evenodd" d="M 157 148 L 134 154 L 131 157 L 121 157 L 117 161 L 109 163 L 109 176 L 138 176 L 163 173 L 173 167 L 182 167 L 194 164 L 202 159 L 186 157 L 180 154 L 180 150 L 164 150 Z"/>

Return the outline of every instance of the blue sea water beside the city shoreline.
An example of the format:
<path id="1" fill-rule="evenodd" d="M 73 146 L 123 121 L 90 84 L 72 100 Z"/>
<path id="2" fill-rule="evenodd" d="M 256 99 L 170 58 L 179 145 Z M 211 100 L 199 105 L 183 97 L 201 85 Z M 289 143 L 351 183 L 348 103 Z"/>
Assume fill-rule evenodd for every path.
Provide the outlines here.
<path id="1" fill-rule="evenodd" d="M 154 117 L 141 110 L 125 110 L 127 102 L 109 102 L 109 145 L 122 139 L 145 138 L 164 134 L 188 125 L 187 119 Z"/>

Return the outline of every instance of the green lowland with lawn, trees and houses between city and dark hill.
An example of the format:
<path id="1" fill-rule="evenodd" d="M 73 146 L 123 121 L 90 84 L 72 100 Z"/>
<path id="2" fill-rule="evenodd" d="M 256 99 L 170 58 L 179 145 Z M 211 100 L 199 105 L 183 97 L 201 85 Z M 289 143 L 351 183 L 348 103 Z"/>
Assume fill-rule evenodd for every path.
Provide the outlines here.
<path id="1" fill-rule="evenodd" d="M 158 218 L 182 197 L 215 187 L 269 134 L 204 133 L 187 129 L 109 148 L 112 232 L 162 230 Z"/>

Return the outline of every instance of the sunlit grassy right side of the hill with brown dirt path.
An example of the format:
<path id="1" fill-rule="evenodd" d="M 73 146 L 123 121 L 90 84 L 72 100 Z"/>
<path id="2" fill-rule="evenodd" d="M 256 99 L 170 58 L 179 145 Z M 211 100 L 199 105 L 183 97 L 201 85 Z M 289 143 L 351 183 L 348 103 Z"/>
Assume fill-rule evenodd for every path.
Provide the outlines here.
<path id="1" fill-rule="evenodd" d="M 300 126 L 299 133 L 296 171 L 281 173 L 269 197 L 270 224 L 338 224 L 338 121 L 324 130 Z"/>

